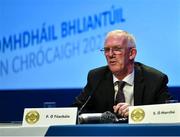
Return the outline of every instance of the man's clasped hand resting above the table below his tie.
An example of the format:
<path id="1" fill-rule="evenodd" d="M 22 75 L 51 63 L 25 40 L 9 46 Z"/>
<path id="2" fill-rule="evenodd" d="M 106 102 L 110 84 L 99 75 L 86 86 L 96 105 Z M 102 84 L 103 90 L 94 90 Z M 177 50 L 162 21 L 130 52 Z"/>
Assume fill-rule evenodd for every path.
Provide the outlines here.
<path id="1" fill-rule="evenodd" d="M 128 117 L 129 115 L 129 104 L 128 103 L 118 103 L 113 106 L 114 113 L 117 113 L 120 116 Z"/>

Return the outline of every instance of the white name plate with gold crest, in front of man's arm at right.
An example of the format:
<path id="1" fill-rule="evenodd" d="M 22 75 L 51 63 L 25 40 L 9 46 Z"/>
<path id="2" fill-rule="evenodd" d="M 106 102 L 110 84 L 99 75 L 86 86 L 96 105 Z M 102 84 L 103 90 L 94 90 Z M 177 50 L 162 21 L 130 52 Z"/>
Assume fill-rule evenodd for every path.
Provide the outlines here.
<path id="1" fill-rule="evenodd" d="M 129 124 L 180 123 L 180 103 L 129 107 Z"/>

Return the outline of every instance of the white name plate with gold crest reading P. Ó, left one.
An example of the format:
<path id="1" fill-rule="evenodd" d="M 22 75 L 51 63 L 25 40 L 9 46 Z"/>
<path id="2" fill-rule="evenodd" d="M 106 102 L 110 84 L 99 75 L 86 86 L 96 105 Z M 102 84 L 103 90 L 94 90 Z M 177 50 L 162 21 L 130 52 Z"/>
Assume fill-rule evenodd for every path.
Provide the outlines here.
<path id="1" fill-rule="evenodd" d="M 75 125 L 77 108 L 25 108 L 23 126 Z"/>

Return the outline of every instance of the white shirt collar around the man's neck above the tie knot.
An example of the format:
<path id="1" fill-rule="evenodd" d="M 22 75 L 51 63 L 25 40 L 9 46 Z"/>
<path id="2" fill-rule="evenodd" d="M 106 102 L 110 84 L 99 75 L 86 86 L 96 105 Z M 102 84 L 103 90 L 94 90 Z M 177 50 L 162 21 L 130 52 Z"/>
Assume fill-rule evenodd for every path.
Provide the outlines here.
<path id="1" fill-rule="evenodd" d="M 115 75 L 113 74 L 113 83 L 115 83 L 116 81 L 119 81 L 116 77 L 115 77 Z M 123 79 L 122 79 L 122 81 L 124 81 L 124 82 L 126 82 L 127 84 L 129 84 L 129 85 L 133 85 L 134 84 L 134 69 L 133 69 L 133 72 L 132 73 L 130 73 L 130 74 L 128 74 L 126 77 L 124 77 Z"/>

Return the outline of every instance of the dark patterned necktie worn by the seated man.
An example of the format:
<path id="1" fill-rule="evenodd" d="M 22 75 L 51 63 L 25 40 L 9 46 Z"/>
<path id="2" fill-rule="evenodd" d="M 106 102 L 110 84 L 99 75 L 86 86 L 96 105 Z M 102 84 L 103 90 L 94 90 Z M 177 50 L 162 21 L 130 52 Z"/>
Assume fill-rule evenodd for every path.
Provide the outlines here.
<path id="1" fill-rule="evenodd" d="M 118 83 L 118 92 L 116 94 L 115 104 L 118 104 L 120 102 L 125 102 L 125 96 L 124 96 L 124 92 L 123 92 L 123 87 L 125 85 L 125 82 L 117 81 L 117 83 Z"/>

